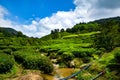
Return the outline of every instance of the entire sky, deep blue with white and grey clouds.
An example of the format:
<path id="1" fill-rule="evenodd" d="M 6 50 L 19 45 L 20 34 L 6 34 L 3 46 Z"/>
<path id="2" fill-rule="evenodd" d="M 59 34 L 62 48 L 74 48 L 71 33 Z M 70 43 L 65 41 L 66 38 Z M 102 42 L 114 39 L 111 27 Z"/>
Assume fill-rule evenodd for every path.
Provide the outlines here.
<path id="1" fill-rule="evenodd" d="M 120 0 L 0 0 L 0 26 L 30 37 L 116 16 L 120 16 Z"/>

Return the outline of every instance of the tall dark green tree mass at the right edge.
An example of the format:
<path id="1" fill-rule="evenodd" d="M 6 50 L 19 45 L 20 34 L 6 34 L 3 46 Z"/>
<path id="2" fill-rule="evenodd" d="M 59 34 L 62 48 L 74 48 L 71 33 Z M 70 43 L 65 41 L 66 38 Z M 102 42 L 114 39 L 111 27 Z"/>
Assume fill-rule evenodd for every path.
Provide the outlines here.
<path id="1" fill-rule="evenodd" d="M 120 32 L 119 23 L 115 20 L 108 20 L 104 24 L 101 24 L 101 33 L 96 35 L 95 46 L 97 48 L 105 48 L 107 51 L 111 51 L 117 46 L 120 46 Z"/>

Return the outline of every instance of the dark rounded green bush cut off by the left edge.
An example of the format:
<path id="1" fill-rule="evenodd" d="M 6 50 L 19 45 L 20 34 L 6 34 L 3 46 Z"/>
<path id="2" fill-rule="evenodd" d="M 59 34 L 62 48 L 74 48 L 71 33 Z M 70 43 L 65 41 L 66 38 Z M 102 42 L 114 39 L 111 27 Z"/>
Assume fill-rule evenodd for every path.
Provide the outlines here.
<path id="1" fill-rule="evenodd" d="M 10 69 L 14 65 L 14 59 L 7 54 L 0 54 L 0 73 L 6 73 L 10 71 Z"/>

